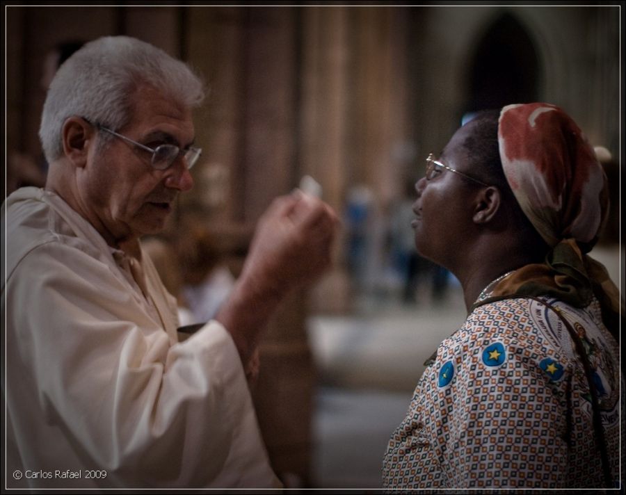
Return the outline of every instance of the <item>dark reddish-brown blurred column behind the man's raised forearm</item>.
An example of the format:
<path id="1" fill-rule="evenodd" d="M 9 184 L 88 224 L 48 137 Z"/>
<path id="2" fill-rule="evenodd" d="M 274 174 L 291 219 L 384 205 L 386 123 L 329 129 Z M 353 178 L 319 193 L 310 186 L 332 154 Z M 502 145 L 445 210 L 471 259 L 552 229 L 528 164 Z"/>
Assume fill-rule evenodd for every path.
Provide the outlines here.
<path id="1" fill-rule="evenodd" d="M 246 221 L 296 186 L 298 15 L 294 8 L 248 10 L 237 205 Z M 260 346 L 261 371 L 252 389 L 273 468 L 287 487 L 307 486 L 310 478 L 315 379 L 305 318 L 303 293 L 278 309 Z"/>

